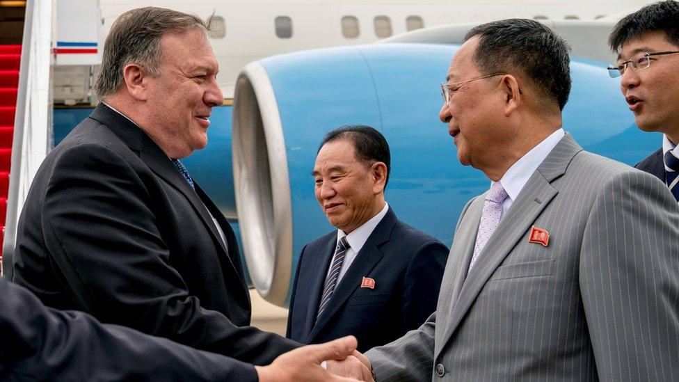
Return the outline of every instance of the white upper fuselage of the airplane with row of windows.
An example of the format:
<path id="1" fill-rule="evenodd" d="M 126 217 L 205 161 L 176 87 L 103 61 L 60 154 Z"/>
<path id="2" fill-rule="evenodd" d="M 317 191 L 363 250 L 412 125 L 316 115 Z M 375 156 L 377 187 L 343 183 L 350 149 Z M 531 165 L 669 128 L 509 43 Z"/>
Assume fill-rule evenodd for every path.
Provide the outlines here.
<path id="1" fill-rule="evenodd" d="M 57 104 L 91 100 L 82 79 L 89 77 L 90 70 L 92 77 L 96 75 L 101 59 L 96 48 L 103 46 L 116 17 L 140 6 L 173 8 L 206 19 L 212 16 L 215 33 L 211 34 L 211 42 L 220 65 L 218 82 L 225 98 L 231 100 L 241 69 L 266 56 L 369 44 L 417 29 L 479 24 L 508 17 L 592 21 L 644 3 L 646 1 L 639 0 L 146 0 L 142 3 L 60 0 L 56 10 L 58 41 L 86 45 L 65 47 L 72 51 L 64 54 L 56 52 L 54 100 Z M 74 67 L 79 54 L 73 50 L 78 48 L 89 52 L 93 58 L 91 65 Z M 72 61 L 73 58 L 76 60 Z"/>

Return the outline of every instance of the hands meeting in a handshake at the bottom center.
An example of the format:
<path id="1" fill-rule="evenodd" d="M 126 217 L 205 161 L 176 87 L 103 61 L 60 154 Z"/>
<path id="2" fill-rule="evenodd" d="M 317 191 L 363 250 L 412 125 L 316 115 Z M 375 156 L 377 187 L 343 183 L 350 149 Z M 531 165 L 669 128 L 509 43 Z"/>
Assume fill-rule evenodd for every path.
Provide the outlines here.
<path id="1" fill-rule="evenodd" d="M 260 382 L 373 381 L 370 361 L 356 351 L 349 335 L 324 344 L 307 345 L 281 354 L 268 366 L 255 366 Z M 326 367 L 321 366 L 325 362 Z"/>

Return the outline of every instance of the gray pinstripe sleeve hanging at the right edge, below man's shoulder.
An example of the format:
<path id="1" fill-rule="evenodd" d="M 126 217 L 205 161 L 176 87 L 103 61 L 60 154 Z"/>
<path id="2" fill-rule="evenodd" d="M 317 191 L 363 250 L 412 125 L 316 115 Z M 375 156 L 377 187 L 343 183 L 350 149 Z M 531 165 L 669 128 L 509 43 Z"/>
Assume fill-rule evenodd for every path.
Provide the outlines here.
<path id="1" fill-rule="evenodd" d="M 636 170 L 607 183 L 579 281 L 600 381 L 679 380 L 679 207 L 664 184 Z"/>

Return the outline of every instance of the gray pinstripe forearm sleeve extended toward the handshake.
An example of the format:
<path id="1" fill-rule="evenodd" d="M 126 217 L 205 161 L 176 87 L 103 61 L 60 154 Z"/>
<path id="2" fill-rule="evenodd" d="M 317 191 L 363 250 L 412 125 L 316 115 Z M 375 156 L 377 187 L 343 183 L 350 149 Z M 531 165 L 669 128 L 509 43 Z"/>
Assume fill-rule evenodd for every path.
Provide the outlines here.
<path id="1" fill-rule="evenodd" d="M 365 352 L 377 381 L 429 381 L 434 356 L 436 312 L 415 331 Z"/>

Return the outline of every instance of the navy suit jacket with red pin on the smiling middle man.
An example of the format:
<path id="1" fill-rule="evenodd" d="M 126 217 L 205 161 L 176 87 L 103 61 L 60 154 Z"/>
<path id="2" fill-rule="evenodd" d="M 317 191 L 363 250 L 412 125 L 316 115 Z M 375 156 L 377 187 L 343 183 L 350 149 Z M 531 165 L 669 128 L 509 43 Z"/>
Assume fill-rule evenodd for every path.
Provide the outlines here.
<path id="1" fill-rule="evenodd" d="M 370 234 L 318 321 L 316 314 L 337 231 L 307 244 L 300 255 L 287 337 L 305 344 L 355 335 L 365 351 L 419 327 L 436 310 L 448 248 L 399 221 L 389 208 Z M 375 280 L 362 288 L 363 277 Z"/>

